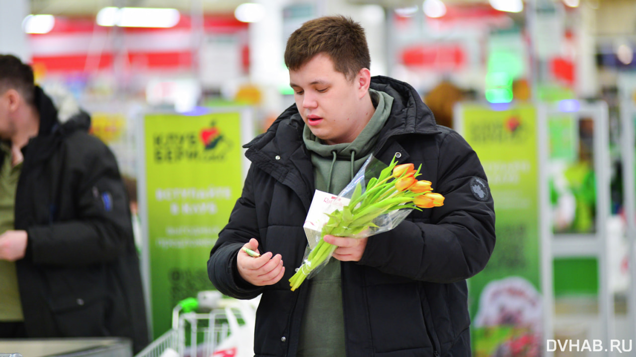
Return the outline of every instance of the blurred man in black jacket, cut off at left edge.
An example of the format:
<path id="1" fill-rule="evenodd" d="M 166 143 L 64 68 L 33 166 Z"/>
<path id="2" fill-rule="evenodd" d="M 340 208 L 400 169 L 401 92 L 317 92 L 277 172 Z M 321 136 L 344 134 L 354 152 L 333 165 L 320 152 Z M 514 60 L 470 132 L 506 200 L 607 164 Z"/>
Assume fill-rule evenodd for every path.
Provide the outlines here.
<path id="1" fill-rule="evenodd" d="M 0 338 L 128 337 L 137 352 L 148 328 L 128 200 L 89 127 L 0 55 Z"/>

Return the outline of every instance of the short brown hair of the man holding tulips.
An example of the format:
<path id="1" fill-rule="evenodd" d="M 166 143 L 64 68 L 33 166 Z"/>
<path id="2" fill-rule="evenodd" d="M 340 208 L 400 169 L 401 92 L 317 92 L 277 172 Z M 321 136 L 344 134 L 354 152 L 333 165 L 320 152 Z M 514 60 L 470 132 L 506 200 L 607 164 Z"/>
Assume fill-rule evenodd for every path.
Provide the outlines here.
<path id="1" fill-rule="evenodd" d="M 349 17 L 319 17 L 305 22 L 287 39 L 285 65 L 297 71 L 319 53 L 328 55 L 334 69 L 347 79 L 371 67 L 364 29 Z"/>

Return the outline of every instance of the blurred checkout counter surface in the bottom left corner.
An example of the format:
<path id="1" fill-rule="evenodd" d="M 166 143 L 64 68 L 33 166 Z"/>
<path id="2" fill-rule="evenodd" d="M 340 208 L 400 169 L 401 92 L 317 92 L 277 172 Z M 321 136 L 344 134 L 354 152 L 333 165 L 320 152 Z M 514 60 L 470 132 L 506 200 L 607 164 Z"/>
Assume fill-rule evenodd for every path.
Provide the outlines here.
<path id="1" fill-rule="evenodd" d="M 116 337 L 0 339 L 1 357 L 20 357 L 20 355 L 23 357 L 132 357 L 132 342 Z"/>

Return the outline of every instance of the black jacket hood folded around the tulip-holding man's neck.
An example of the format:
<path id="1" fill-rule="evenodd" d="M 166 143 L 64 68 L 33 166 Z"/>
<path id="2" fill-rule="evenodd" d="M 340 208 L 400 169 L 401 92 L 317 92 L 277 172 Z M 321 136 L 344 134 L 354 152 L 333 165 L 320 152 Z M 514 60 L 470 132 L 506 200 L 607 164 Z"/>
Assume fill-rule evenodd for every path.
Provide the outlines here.
<path id="1" fill-rule="evenodd" d="M 385 142 L 394 135 L 434 134 L 440 132 L 431 110 L 422 102 L 419 93 L 410 84 L 391 77 L 374 76 L 371 77 L 371 88 L 384 91 L 394 99 L 389 119 L 382 131 L 380 131 L 378 147 L 384 146 Z M 287 107 L 265 133 L 254 138 L 254 140 L 245 144 L 244 147 L 255 150 L 262 149 L 275 136 L 280 135 L 279 129 L 281 125 L 291 126 L 291 128 L 298 131 L 300 142 L 302 142 L 301 136 L 305 123 L 303 123 L 300 115 L 294 114 L 299 114 L 296 104 Z M 287 139 L 289 137 L 284 140 Z M 278 140 L 280 141 L 281 138 L 278 138 Z"/>

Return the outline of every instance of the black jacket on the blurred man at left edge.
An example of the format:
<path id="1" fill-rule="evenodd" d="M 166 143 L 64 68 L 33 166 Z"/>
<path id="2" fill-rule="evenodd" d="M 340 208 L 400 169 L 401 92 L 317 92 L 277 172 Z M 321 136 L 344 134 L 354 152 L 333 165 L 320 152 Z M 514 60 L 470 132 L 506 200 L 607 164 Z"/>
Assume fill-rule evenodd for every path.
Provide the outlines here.
<path id="1" fill-rule="evenodd" d="M 15 229 L 29 234 L 16 262 L 27 335 L 128 337 L 139 351 L 146 310 L 115 158 L 88 135 L 86 113 L 60 123 L 39 88 L 36 105 L 39 134 L 22 150 L 15 204 Z"/>

